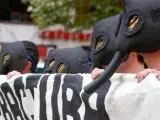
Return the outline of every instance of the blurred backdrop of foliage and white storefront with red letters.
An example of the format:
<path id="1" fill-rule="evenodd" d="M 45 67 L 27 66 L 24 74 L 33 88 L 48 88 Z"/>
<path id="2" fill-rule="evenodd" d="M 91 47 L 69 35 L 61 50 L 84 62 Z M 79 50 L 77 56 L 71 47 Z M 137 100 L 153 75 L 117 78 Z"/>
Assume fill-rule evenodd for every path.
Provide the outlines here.
<path id="1" fill-rule="evenodd" d="M 0 43 L 34 42 L 43 68 L 50 49 L 88 48 L 96 21 L 122 8 L 122 0 L 0 0 Z"/>

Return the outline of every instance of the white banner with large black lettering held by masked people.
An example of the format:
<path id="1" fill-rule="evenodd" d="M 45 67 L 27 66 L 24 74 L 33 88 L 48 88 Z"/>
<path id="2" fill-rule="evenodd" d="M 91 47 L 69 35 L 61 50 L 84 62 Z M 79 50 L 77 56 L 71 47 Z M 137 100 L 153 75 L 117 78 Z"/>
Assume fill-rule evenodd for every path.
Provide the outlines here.
<path id="1" fill-rule="evenodd" d="M 114 74 L 94 94 L 83 87 L 90 74 L 0 76 L 0 120 L 159 120 L 160 81 L 140 84 Z"/>

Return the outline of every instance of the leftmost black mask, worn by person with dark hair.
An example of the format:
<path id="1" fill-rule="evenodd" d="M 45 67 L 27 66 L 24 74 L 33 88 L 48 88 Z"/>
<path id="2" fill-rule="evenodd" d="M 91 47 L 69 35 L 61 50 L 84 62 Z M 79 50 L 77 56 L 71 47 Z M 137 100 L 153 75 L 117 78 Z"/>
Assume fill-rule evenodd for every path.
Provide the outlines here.
<path id="1" fill-rule="evenodd" d="M 19 41 L 2 44 L 0 57 L 3 69 L 0 70 L 0 74 L 7 74 L 13 70 L 23 72 L 28 61 L 25 47 Z"/>

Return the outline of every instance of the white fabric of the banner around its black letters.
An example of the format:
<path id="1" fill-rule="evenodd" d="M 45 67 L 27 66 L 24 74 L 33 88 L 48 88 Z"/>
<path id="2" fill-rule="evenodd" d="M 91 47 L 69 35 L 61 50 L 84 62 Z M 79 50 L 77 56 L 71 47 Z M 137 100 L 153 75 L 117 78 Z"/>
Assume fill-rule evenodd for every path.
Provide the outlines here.
<path id="1" fill-rule="evenodd" d="M 83 83 L 82 86 L 86 86 L 90 82 L 92 82 L 90 74 L 79 74 L 83 77 Z M 30 75 L 23 75 L 23 84 L 24 88 L 26 87 L 26 78 Z M 32 120 L 31 115 L 34 115 L 34 120 L 40 120 L 40 89 L 42 81 L 42 75 L 40 77 L 40 80 L 37 83 L 37 86 L 34 87 L 34 99 L 32 98 L 31 92 L 25 88 L 25 94 L 26 96 L 23 97 L 23 92 L 20 91 L 20 94 L 22 96 L 22 106 L 23 109 L 28 116 L 29 120 Z M 44 96 L 45 103 L 46 103 L 46 117 L 47 120 L 52 120 L 53 114 L 52 114 L 52 92 L 54 90 L 53 86 L 55 84 L 55 76 L 56 74 L 50 75 L 48 77 L 47 83 L 46 83 L 46 94 Z M 57 106 L 58 106 L 58 112 L 60 115 L 60 120 L 63 120 L 63 83 L 68 81 L 68 79 L 65 79 L 65 74 L 61 76 L 61 85 L 60 89 L 58 91 L 58 97 L 57 97 Z M 14 95 L 16 96 L 16 91 L 14 90 L 14 82 L 16 78 L 19 76 L 15 76 L 14 78 L 7 80 L 6 76 L 0 76 L 0 85 L 2 86 L 4 83 L 8 83 L 10 88 L 12 89 Z M 72 76 L 74 78 L 74 75 Z M 75 77 L 75 79 L 77 79 Z M 135 79 L 135 75 L 132 74 L 114 74 L 112 78 L 110 79 L 111 86 L 109 88 L 108 93 L 104 96 L 104 106 L 105 110 L 110 118 L 110 120 L 159 120 L 160 119 L 160 81 L 155 77 L 154 74 L 150 74 L 143 82 L 137 83 L 137 80 Z M 76 87 L 78 87 L 77 84 L 73 83 Z M 45 87 L 45 86 L 44 86 Z M 44 88 L 42 87 L 42 88 Z M 83 88 L 82 87 L 82 88 Z M 0 92 L 4 96 L 4 92 L 2 89 L 0 89 Z M 84 116 L 86 113 L 85 108 L 85 102 L 83 101 L 81 95 L 83 94 L 83 89 L 81 89 L 79 96 L 82 100 L 82 103 L 78 109 L 78 113 L 81 120 L 85 120 Z M 67 89 L 66 98 L 69 102 L 73 99 L 73 89 Z M 8 95 L 11 101 L 11 104 L 15 104 L 15 101 L 12 99 L 12 96 Z M 90 96 L 88 102 L 90 107 L 93 110 L 98 110 L 97 108 L 97 97 L 98 94 L 94 93 Z M 12 113 L 10 106 L 8 105 L 8 101 L 5 98 L 5 101 L 7 103 L 8 110 Z M 17 96 L 16 99 L 18 100 Z M 4 101 L 2 100 L 0 96 L 0 103 L 4 104 Z M 18 101 L 18 104 L 20 105 L 20 102 Z M 74 106 L 74 105 L 73 105 Z M 73 107 L 72 106 L 72 107 Z M 3 116 L 3 111 L 0 106 L 0 120 L 5 120 Z M 20 106 L 19 106 L 20 108 Z M 22 108 L 20 108 L 22 111 Z M 8 116 L 8 115 L 7 115 Z M 22 114 L 24 120 L 24 114 Z M 9 117 L 9 116 L 8 116 Z M 13 114 L 12 114 L 13 117 Z M 20 119 L 20 117 L 18 117 Z M 73 116 L 66 115 L 67 120 L 74 120 Z M 13 117 L 13 120 L 14 117 Z"/>

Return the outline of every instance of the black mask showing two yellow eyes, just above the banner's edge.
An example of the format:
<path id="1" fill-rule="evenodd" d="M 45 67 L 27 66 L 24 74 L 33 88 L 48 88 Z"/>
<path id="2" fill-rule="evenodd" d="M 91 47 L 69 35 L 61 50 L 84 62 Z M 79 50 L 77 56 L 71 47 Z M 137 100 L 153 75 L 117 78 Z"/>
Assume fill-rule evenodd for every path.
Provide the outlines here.
<path id="1" fill-rule="evenodd" d="M 90 73 L 89 56 L 81 47 L 50 50 L 44 73 Z"/>

